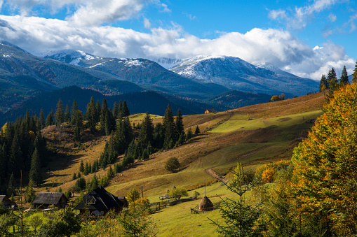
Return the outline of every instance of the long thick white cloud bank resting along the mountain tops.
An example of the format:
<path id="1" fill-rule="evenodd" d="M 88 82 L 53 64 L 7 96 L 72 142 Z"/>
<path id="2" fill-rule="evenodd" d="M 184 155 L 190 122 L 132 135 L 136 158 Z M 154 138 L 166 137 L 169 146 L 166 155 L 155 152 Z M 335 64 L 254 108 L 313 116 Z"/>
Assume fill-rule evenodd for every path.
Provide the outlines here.
<path id="1" fill-rule="evenodd" d="M 352 72 L 354 59 L 331 42 L 311 48 L 278 29 L 252 29 L 245 34 L 222 33 L 214 39 L 187 34 L 177 24 L 151 33 L 110 26 L 76 27 L 69 21 L 41 17 L 0 16 L 0 36 L 25 50 L 41 55 L 62 49 L 83 50 L 101 57 L 175 57 L 227 55 L 252 64 L 270 62 L 290 73 L 320 79 L 329 67 L 346 65 Z"/>

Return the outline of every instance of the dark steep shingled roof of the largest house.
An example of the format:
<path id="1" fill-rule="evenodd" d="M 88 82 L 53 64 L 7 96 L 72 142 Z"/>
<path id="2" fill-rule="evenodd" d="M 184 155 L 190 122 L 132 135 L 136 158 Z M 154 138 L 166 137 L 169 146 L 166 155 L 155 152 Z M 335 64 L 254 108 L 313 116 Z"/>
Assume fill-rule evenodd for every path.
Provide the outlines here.
<path id="1" fill-rule="evenodd" d="M 87 203 L 87 205 L 86 205 Z M 99 185 L 92 192 L 86 194 L 83 200 L 74 207 L 76 210 L 110 210 L 112 208 L 121 208 L 124 205 L 118 197 L 107 192 L 104 187 Z"/>

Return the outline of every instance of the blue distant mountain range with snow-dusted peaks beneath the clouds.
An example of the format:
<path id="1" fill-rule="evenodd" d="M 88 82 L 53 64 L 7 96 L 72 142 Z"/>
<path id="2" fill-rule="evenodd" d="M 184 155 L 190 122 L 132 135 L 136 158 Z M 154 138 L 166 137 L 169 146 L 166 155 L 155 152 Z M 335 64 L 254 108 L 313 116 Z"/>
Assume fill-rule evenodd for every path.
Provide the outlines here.
<path id="1" fill-rule="evenodd" d="M 33 101 L 30 99 L 41 94 L 47 97 L 34 100 L 38 108 L 46 107 L 44 101 L 58 94 L 57 90 L 71 86 L 90 89 L 102 96 L 124 98 L 124 94 L 138 93 L 137 99 L 147 99 L 144 92 L 153 91 L 156 99 L 161 96 L 161 101 L 175 103 L 186 113 L 262 103 L 273 94 L 292 97 L 318 90 L 318 82 L 314 80 L 299 78 L 271 64 L 254 66 L 237 57 L 126 59 L 98 57 L 79 50 L 43 56 L 31 55 L 11 43 L 0 43 L 0 111 L 9 111 L 5 117 L 13 119 L 13 115 L 20 115 L 13 109 L 25 108 L 22 105 L 25 101 L 30 108 Z M 153 106 L 148 109 L 154 111 L 159 100 L 149 101 Z M 133 106 L 134 111 L 146 112 L 138 101 Z"/>

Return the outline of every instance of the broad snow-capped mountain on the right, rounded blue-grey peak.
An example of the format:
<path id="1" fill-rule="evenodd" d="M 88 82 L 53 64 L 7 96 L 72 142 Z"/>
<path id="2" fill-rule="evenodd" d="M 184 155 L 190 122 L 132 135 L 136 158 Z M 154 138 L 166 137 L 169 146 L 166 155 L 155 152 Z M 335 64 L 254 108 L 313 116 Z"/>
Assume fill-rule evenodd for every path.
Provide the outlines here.
<path id="1" fill-rule="evenodd" d="M 255 66 L 238 57 L 227 56 L 198 56 L 181 60 L 181 64 L 169 70 L 198 82 L 215 83 L 229 89 L 265 94 L 285 93 L 288 96 L 300 96 L 318 90 L 315 80 L 299 78 L 272 64 Z M 179 61 L 166 59 L 163 62 Z"/>

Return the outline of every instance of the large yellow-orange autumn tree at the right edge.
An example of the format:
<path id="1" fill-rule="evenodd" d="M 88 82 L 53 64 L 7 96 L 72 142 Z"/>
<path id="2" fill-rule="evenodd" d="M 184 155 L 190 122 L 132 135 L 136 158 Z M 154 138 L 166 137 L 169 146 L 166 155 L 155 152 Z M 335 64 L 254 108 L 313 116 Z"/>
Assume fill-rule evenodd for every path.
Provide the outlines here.
<path id="1" fill-rule="evenodd" d="M 300 213 L 318 215 L 333 236 L 357 235 L 357 84 L 332 94 L 295 148 L 292 189 Z"/>

